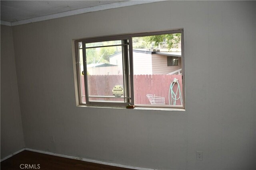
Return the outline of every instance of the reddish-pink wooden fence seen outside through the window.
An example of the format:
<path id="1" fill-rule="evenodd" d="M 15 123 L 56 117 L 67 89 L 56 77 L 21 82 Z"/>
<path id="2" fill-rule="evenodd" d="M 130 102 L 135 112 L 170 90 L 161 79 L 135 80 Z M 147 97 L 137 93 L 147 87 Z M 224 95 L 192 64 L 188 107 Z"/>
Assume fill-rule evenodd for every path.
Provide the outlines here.
<path id="1" fill-rule="evenodd" d="M 82 91 L 84 92 L 84 76 L 82 78 Z M 169 104 L 169 89 L 170 84 L 174 78 L 178 79 L 180 89 L 182 91 L 182 75 L 134 75 L 134 100 L 135 104 L 150 104 L 147 94 L 152 94 L 165 98 L 165 104 Z M 123 87 L 122 75 L 88 75 L 88 91 L 89 96 L 113 96 L 112 89 L 115 85 Z M 174 92 L 176 92 L 178 85 L 174 85 Z M 179 92 L 177 93 L 177 96 Z M 90 98 L 92 100 L 99 100 L 99 98 Z M 85 98 L 83 98 L 85 101 Z M 102 100 L 102 99 L 101 99 Z M 108 101 L 122 101 L 120 98 L 104 98 Z M 181 105 L 180 100 L 176 101 L 176 105 Z"/>

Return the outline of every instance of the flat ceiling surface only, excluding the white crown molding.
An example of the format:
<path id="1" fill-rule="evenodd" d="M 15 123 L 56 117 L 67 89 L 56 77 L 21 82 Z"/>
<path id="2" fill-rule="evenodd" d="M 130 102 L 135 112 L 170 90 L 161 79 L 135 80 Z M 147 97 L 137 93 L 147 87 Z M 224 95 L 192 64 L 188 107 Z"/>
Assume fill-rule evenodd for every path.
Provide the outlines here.
<path id="1" fill-rule="evenodd" d="M 70 10 L 88 8 L 103 4 L 120 2 L 114 0 L 96 1 L 96 0 L 1 0 L 1 20 L 19 21 L 38 16 L 46 16 Z"/>

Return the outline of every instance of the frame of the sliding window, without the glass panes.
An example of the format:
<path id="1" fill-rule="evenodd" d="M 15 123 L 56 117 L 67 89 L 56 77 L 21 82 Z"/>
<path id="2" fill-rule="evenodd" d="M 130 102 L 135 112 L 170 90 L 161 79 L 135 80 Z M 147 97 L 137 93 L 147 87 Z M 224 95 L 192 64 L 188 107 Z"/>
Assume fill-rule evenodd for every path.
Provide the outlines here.
<path id="1" fill-rule="evenodd" d="M 76 101 L 78 106 L 106 106 L 106 107 L 116 107 L 116 106 L 127 106 L 134 105 L 134 84 L 133 84 L 133 49 L 132 49 L 132 37 L 144 37 L 152 35 L 163 35 L 163 34 L 174 34 L 181 33 L 181 60 L 182 60 L 182 106 L 172 106 L 172 105 L 135 105 L 135 107 L 144 107 L 144 108 L 164 108 L 164 109 L 185 109 L 185 74 L 184 74 L 184 33 L 183 29 L 176 29 L 170 31 L 158 31 L 158 32 L 148 32 L 148 33 L 133 33 L 125 35 L 112 35 L 105 37 L 93 37 L 85 39 L 76 39 L 74 40 L 74 57 L 75 57 L 75 84 L 76 84 Z M 104 41 L 116 41 L 116 40 L 128 40 L 129 55 L 123 56 L 123 67 L 124 67 L 124 102 L 92 102 L 88 97 L 88 87 L 87 87 L 87 78 L 86 78 L 86 56 L 85 56 L 85 43 L 95 43 L 95 42 L 104 42 Z M 86 103 L 82 103 L 82 88 L 81 88 L 81 79 L 80 79 L 80 59 L 79 59 L 79 49 L 78 43 L 82 42 L 83 49 L 83 65 L 84 65 L 84 84 L 85 84 L 85 94 L 86 94 Z"/>

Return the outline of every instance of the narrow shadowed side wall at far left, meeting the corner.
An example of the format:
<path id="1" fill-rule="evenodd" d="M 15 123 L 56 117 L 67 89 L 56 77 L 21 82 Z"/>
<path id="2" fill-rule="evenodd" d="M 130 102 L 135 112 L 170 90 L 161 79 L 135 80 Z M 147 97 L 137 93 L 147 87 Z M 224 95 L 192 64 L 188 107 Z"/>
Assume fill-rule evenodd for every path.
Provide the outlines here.
<path id="1" fill-rule="evenodd" d="M 24 147 L 12 28 L 1 25 L 1 159 Z"/>

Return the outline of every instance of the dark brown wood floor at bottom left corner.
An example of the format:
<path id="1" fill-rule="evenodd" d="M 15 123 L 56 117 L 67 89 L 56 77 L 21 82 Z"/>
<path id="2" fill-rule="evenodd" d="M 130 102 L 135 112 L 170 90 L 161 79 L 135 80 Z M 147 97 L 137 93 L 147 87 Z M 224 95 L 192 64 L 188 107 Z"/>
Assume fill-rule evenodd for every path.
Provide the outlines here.
<path id="1" fill-rule="evenodd" d="M 25 164 L 29 164 L 25 168 Z M 40 164 L 38 166 L 38 164 Z M 20 167 L 21 166 L 21 167 Z M 33 166 L 33 168 L 32 168 Z M 1 170 L 131 170 L 24 150 L 1 162 Z"/>

